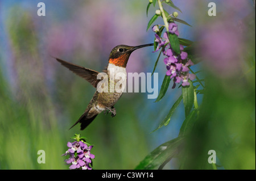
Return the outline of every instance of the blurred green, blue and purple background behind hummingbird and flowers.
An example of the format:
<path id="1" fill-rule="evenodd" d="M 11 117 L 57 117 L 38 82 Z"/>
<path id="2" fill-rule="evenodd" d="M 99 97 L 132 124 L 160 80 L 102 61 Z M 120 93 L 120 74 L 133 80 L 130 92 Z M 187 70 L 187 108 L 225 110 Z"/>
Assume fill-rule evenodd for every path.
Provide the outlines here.
<path id="1" fill-rule="evenodd" d="M 46 3 L 46 16 L 37 15 L 38 2 Z M 205 24 L 223 18 L 223 14 L 216 19 L 207 16 L 208 1 L 195 2 L 174 1 L 183 10 L 179 17 L 193 25 L 193 28 L 180 25 L 180 36 L 191 40 L 201 38 L 199 29 Z M 216 1 L 221 5 L 218 12 L 232 15 L 227 12 L 231 9 L 237 15 L 243 11 L 242 15 L 232 16 L 233 21 L 253 11 L 252 1 L 232 7 L 231 1 L 228 2 Z M 150 9 L 147 18 L 147 3 L 0 1 L 0 169 L 68 169 L 61 154 L 75 133 L 94 145 L 93 169 L 134 169 L 150 151 L 179 134 L 184 120 L 182 104 L 168 127 L 150 133 L 181 94 L 180 89 L 171 87 L 166 99 L 159 103 L 147 99 L 146 93 L 125 93 L 115 106 L 117 116 L 101 114 L 85 131 L 80 131 L 79 126 L 68 131 L 95 90 L 51 56 L 100 71 L 108 64 L 115 45 L 152 43 L 154 33 L 146 32 L 146 27 L 155 10 Z M 243 47 L 238 52 L 242 58 L 237 59 L 249 63 L 232 66 L 232 70 L 241 70 L 233 74 L 206 69 L 201 75 L 208 77 L 208 92 L 204 99 L 198 98 L 205 114 L 187 140 L 187 153 L 183 153 L 186 169 L 209 169 L 209 149 L 216 149 L 222 169 L 255 169 L 255 21 L 253 25 L 250 21 L 247 24 L 250 33 L 241 37 L 243 44 L 232 48 Z M 202 48 L 199 51 L 207 52 Z M 144 48 L 131 54 L 127 72 L 151 72 L 157 56 L 151 52 L 151 48 Z M 199 65 L 195 69 L 201 67 L 209 68 Z M 220 70 L 218 66 L 216 69 Z M 159 61 L 156 72 L 160 86 L 166 72 L 163 61 Z M 38 150 L 46 151 L 45 164 L 37 162 Z M 180 160 L 174 159 L 164 169 L 179 169 L 179 165 Z"/>

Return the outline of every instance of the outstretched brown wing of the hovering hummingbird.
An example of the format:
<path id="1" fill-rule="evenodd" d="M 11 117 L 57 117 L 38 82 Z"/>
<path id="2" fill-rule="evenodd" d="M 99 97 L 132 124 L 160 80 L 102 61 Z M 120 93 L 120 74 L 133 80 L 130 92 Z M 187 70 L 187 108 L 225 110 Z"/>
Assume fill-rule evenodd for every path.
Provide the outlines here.
<path id="1" fill-rule="evenodd" d="M 97 79 L 98 71 L 91 70 L 84 68 L 82 66 L 71 64 L 69 62 L 66 62 L 64 60 L 60 60 L 59 58 L 56 58 L 58 62 L 60 62 L 61 65 L 65 66 L 69 70 L 73 71 L 73 73 L 79 75 L 80 77 L 84 78 L 86 81 L 88 81 L 93 87 L 97 88 L 97 84 L 100 79 Z"/>

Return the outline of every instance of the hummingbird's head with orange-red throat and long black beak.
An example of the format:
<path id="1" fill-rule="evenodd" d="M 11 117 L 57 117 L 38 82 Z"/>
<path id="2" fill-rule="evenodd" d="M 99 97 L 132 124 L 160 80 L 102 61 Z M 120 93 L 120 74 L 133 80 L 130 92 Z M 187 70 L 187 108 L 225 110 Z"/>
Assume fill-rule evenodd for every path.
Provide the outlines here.
<path id="1" fill-rule="evenodd" d="M 128 46 L 128 45 L 118 45 L 117 47 L 114 47 L 110 53 L 109 56 L 109 64 L 114 64 L 116 66 L 121 66 L 123 68 L 126 68 L 126 64 L 129 60 L 131 52 L 133 52 L 135 49 L 143 48 L 152 46 L 154 44 L 145 44 L 145 45 L 139 45 L 139 46 Z"/>

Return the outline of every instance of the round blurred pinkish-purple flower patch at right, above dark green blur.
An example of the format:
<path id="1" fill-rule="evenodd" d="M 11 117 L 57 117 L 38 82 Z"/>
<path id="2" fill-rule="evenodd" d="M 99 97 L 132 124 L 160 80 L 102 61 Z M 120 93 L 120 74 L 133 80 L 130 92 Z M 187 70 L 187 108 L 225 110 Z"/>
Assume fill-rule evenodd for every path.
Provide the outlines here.
<path id="1" fill-rule="evenodd" d="M 210 71 L 220 76 L 233 76 L 240 71 L 243 52 L 242 36 L 238 28 L 227 20 L 210 24 L 204 30 L 200 51 Z"/>

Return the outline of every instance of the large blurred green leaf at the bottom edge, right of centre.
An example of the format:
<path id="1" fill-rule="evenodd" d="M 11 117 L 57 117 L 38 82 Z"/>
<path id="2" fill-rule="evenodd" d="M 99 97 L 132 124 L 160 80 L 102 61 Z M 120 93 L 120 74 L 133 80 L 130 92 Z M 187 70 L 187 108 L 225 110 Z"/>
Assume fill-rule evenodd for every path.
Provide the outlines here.
<path id="1" fill-rule="evenodd" d="M 167 159 L 178 154 L 179 146 L 183 143 L 183 137 L 177 137 L 158 146 L 135 168 L 135 170 L 157 169 Z"/>

